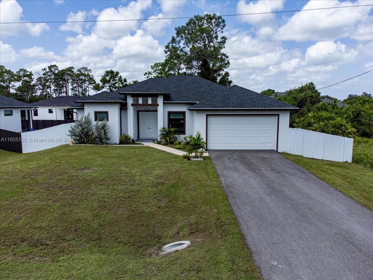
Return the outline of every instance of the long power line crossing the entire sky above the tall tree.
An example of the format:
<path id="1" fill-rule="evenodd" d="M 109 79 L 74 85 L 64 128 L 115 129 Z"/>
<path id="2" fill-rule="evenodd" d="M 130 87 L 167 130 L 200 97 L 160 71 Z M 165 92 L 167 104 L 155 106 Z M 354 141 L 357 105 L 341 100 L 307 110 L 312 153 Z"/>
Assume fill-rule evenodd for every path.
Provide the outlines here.
<path id="1" fill-rule="evenodd" d="M 326 10 L 326 9 L 339 9 L 339 8 L 350 8 L 350 7 L 365 7 L 365 6 L 373 6 L 372 5 L 354 5 L 354 6 L 341 6 L 341 7 L 327 7 L 327 8 L 315 8 L 315 9 L 304 9 L 304 10 L 288 10 L 288 11 L 277 11 L 277 12 L 263 12 L 263 13 L 238 13 L 232 15 L 221 15 L 221 16 L 245 16 L 245 15 L 263 15 L 268 13 L 291 13 L 291 12 L 303 12 L 303 11 L 313 11 L 313 10 Z M 211 17 L 207 15 L 203 15 L 201 17 Z M 25 24 L 25 23 L 68 23 L 68 22 L 107 22 L 107 21 L 150 21 L 150 20 L 158 20 L 158 19 L 187 19 L 187 18 L 194 18 L 194 16 L 183 16 L 183 17 L 175 17 L 175 18 L 145 18 L 145 19 L 107 19 L 101 21 L 22 21 L 22 22 L 0 22 L 0 24 Z"/>

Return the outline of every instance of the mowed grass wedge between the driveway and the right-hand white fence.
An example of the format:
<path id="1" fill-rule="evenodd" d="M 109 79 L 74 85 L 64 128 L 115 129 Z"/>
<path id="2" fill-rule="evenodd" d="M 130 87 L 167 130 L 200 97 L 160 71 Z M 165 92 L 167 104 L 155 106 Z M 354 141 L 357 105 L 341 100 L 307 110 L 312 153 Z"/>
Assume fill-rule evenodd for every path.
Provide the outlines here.
<path id="1" fill-rule="evenodd" d="M 282 153 L 341 193 L 373 211 L 373 170 L 359 164 Z"/>

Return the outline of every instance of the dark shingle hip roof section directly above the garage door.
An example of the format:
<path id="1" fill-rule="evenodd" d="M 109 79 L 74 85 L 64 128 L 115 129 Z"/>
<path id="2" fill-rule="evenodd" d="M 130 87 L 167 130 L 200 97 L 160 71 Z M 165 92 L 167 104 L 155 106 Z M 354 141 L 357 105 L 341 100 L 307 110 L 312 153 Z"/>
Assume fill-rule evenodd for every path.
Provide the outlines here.
<path id="1" fill-rule="evenodd" d="M 189 109 L 298 109 L 272 97 L 232 85 Z"/>

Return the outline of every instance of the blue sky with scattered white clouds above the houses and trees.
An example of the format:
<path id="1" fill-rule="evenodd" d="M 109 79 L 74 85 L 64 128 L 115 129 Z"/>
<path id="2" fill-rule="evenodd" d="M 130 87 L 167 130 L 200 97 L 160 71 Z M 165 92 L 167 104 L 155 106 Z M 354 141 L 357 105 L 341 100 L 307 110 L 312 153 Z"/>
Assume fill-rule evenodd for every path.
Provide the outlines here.
<path id="1" fill-rule="evenodd" d="M 206 12 L 219 15 L 373 4 L 359 1 L 13 1 L 1 22 L 148 19 Z M 234 84 L 285 91 L 313 81 L 318 88 L 373 69 L 373 6 L 227 16 L 225 52 Z M 164 45 L 187 19 L 73 24 L 1 24 L 0 63 L 33 72 L 87 66 L 98 80 L 107 69 L 144 80 L 164 59 Z M 373 72 L 325 90 L 339 99 L 373 93 Z"/>

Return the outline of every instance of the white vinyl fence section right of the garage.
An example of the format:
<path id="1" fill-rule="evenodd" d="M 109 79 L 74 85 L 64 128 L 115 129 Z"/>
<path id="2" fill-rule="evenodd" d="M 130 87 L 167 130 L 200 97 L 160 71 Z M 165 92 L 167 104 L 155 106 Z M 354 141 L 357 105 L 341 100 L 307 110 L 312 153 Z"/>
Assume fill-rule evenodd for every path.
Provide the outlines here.
<path id="1" fill-rule="evenodd" d="M 354 139 L 300 128 L 289 128 L 288 153 L 327 161 L 352 160 Z"/>

